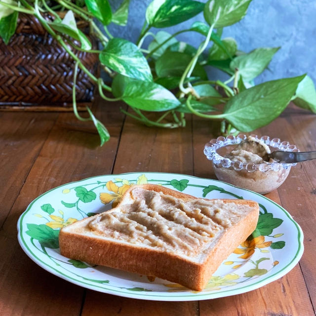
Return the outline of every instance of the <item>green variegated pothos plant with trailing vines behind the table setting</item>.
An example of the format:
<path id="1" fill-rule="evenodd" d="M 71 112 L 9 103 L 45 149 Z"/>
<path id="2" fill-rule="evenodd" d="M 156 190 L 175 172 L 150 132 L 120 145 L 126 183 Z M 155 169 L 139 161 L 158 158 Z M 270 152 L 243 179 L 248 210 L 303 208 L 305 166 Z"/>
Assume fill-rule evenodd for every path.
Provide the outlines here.
<path id="1" fill-rule="evenodd" d="M 223 28 L 241 20 L 250 2 L 153 0 L 147 7 L 138 40 L 133 43 L 120 38 L 119 34 L 111 34 L 107 28 L 110 23 L 126 25 L 129 0 L 122 0 L 116 11 L 108 0 L 0 0 L 0 36 L 5 43 L 9 42 L 19 12 L 38 18 L 74 59 L 74 113 L 80 120 L 93 121 L 101 145 L 110 138 L 106 127 L 90 109 L 87 108 L 88 118 L 81 117 L 77 111 L 78 68 L 95 82 L 103 99 L 124 101 L 133 111 L 121 111 L 148 126 L 185 126 L 185 116 L 189 113 L 220 119 L 221 131 L 226 134 L 249 132 L 274 120 L 291 100 L 316 113 L 316 90 L 312 79 L 306 75 L 254 84 L 253 79 L 268 67 L 278 47 L 242 52 L 234 39 L 222 38 Z M 60 11 L 65 11 L 63 19 L 58 14 Z M 174 26 L 200 12 L 203 12 L 204 21 L 194 22 L 190 27 L 185 25 L 174 34 L 151 32 L 151 28 Z M 51 15 L 53 20 L 45 19 L 45 14 Z M 90 34 L 99 40 L 102 49 L 92 49 L 90 41 L 77 28 L 77 19 L 89 22 Z M 184 32 L 199 33 L 203 40 L 198 47 L 178 41 L 176 36 Z M 147 37 L 153 40 L 144 47 Z M 112 83 L 90 73 L 70 46 L 98 54 Z M 205 66 L 220 69 L 230 79 L 225 82 L 209 80 Z M 150 112 L 160 112 L 160 115 L 150 119 Z"/>

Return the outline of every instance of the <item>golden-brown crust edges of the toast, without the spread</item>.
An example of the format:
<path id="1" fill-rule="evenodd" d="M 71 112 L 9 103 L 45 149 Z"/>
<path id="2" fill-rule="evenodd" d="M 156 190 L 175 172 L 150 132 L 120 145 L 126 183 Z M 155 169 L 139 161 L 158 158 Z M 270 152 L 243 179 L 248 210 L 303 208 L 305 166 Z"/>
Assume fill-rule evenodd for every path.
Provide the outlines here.
<path id="1" fill-rule="evenodd" d="M 135 187 L 137 186 L 132 186 L 125 192 L 120 203 L 124 203 L 130 198 L 137 198 L 133 192 Z M 197 197 L 163 186 L 145 184 L 141 187 L 181 198 L 184 201 L 197 199 Z M 205 287 L 208 279 L 221 262 L 255 230 L 258 221 L 259 206 L 257 202 L 241 199 L 223 199 L 223 201 L 225 203 L 247 204 L 251 207 L 251 211 L 237 225 L 233 225 L 221 235 L 216 245 L 208 250 L 207 258 L 202 263 L 190 261 L 189 258 L 186 259 L 174 253 L 110 238 L 87 236 L 67 229 L 76 223 L 89 222 L 91 217 L 60 231 L 60 251 L 65 257 L 142 275 L 157 276 L 200 291 Z M 119 209 L 119 204 L 116 209 Z"/>

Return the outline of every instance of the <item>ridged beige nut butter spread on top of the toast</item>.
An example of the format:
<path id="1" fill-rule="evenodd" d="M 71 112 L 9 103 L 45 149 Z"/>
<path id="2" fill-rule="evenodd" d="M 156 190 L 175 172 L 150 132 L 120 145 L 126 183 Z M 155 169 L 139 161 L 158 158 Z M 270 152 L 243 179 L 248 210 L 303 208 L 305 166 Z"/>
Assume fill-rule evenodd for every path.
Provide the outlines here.
<path id="1" fill-rule="evenodd" d="M 117 211 L 95 216 L 89 229 L 102 237 L 197 257 L 249 208 L 221 200 L 184 201 L 155 191 L 136 190 L 141 198 L 120 204 Z"/>

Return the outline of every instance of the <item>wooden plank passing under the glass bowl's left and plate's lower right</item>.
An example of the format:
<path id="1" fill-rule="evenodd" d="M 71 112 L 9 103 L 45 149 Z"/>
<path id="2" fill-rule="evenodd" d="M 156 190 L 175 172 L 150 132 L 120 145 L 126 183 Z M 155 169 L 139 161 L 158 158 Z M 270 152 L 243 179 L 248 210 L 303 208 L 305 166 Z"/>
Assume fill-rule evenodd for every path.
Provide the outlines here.
<path id="1" fill-rule="evenodd" d="M 216 134 L 212 134 L 214 129 L 210 128 L 210 125 L 211 123 L 207 120 L 200 118 L 194 119 L 194 173 L 201 177 L 216 179 L 210 161 L 203 155 L 204 144 L 217 136 Z M 286 130 L 285 126 L 288 126 L 288 122 L 284 117 L 276 119 L 268 126 L 254 131 L 253 133 L 257 132 L 260 136 L 269 135 L 272 138 L 283 138 L 286 135 L 280 135 L 279 126 L 282 126 L 283 131 Z M 208 130 L 209 133 L 207 133 Z M 215 129 L 215 131 L 216 130 L 217 129 Z M 284 188 L 284 184 L 281 188 Z M 291 194 L 291 191 L 289 191 L 288 194 Z M 281 204 L 281 199 L 277 191 L 271 192 L 267 197 Z M 293 195 L 293 198 L 295 197 L 297 198 L 298 196 Z M 309 263 L 309 265 L 310 264 L 311 263 Z M 216 300 L 201 301 L 200 315 L 251 316 L 268 315 L 269 313 L 269 315 L 314 315 L 309 294 L 302 271 L 299 265 L 297 265 L 286 276 L 249 293 Z M 293 302 L 295 302 L 295 304 L 293 304 Z"/>

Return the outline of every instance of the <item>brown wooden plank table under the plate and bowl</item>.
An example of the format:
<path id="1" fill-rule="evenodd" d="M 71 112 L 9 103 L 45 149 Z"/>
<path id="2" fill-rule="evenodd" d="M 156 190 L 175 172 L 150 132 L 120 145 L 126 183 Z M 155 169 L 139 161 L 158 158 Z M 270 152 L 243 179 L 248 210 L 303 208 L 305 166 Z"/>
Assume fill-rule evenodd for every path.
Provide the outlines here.
<path id="1" fill-rule="evenodd" d="M 187 127 L 149 128 L 126 118 L 123 104 L 95 102 L 111 140 L 102 148 L 93 126 L 72 113 L 0 113 L 0 315 L 310 316 L 316 311 L 316 161 L 292 168 L 267 195 L 304 232 L 305 252 L 286 276 L 248 293 L 195 302 L 156 302 L 87 290 L 35 264 L 17 241 L 16 223 L 27 205 L 61 184 L 123 172 L 173 172 L 215 178 L 203 155 L 218 123 L 188 117 Z M 257 132 L 316 150 L 316 116 L 288 108 Z"/>

